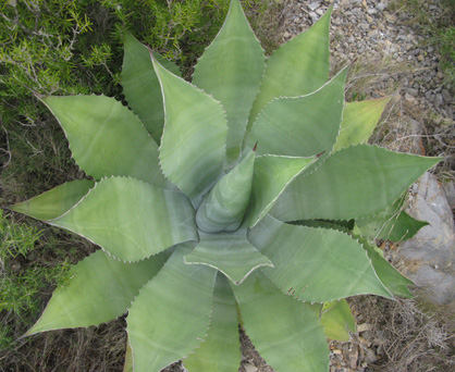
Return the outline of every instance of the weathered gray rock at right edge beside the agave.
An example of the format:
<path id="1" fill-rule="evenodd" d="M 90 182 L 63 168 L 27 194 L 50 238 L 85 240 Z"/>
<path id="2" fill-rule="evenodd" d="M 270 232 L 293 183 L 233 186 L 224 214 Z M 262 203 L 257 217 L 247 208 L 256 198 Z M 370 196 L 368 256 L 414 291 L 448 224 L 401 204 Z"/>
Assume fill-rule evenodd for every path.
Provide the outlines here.
<path id="1" fill-rule="evenodd" d="M 438 303 L 455 303 L 455 227 L 444 189 L 426 173 L 414 186 L 409 213 L 430 223 L 394 257 L 396 264 L 418 286 L 418 294 Z"/>

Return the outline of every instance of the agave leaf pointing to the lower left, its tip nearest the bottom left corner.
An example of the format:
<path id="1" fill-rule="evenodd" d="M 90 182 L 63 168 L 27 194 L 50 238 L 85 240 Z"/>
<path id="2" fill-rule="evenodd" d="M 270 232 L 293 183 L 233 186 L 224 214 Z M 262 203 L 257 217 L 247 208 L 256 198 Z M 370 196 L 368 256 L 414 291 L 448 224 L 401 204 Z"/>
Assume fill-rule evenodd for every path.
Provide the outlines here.
<path id="1" fill-rule="evenodd" d="M 163 252 L 140 262 L 125 263 L 102 250 L 96 251 L 72 268 L 70 283 L 53 292 L 45 312 L 27 335 L 99 325 L 122 315 L 168 257 Z"/>

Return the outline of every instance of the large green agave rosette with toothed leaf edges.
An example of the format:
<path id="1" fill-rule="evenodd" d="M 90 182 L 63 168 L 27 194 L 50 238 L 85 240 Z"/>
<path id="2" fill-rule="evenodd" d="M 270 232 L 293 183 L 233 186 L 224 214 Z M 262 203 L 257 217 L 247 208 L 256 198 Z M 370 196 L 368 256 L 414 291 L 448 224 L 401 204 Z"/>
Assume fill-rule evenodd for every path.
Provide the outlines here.
<path id="1" fill-rule="evenodd" d="M 402 196 L 439 159 L 365 145 L 389 98 L 345 103 L 329 23 L 266 61 L 232 0 L 193 83 L 128 35 L 130 109 L 41 98 L 88 178 L 12 209 L 101 249 L 27 335 L 127 313 L 125 370 L 231 372 L 242 324 L 276 371 L 328 371 L 327 337 L 355 331 L 346 297 L 410 295 L 369 241 L 421 227 Z"/>

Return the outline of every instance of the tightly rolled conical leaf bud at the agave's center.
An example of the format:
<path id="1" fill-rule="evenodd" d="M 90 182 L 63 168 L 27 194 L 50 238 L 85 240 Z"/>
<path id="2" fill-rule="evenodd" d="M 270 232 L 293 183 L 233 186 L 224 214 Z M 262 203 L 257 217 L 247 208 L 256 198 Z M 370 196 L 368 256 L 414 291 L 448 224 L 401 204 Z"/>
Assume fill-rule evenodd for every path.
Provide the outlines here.
<path id="1" fill-rule="evenodd" d="M 255 151 L 250 151 L 204 197 L 196 223 L 206 233 L 234 232 L 244 219 L 251 193 Z"/>

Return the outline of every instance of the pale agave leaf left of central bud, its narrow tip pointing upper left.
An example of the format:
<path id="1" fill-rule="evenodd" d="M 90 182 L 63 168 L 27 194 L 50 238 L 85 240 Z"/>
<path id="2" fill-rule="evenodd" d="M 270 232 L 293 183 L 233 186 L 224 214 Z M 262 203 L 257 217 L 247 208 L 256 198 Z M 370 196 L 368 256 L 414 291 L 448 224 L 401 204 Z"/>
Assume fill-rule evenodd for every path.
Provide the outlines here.
<path id="1" fill-rule="evenodd" d="M 228 133 L 224 111 L 220 102 L 171 74 L 155 59 L 153 66 L 164 97 L 161 168 L 198 206 L 223 169 Z"/>

